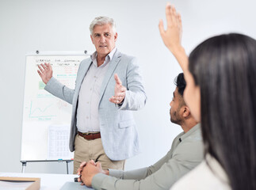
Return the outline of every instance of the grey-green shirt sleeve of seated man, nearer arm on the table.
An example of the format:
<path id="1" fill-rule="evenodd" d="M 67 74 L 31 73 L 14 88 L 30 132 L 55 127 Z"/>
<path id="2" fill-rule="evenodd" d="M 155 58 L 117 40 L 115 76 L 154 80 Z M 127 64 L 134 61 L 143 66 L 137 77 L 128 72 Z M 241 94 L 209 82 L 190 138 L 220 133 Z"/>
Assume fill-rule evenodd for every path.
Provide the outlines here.
<path id="1" fill-rule="evenodd" d="M 144 169 L 140 171 L 140 175 L 135 172 L 129 174 L 128 172 L 116 173 L 116 177 L 97 174 L 92 181 L 93 188 L 121 190 L 169 189 L 185 173 L 188 173 L 202 161 L 202 150 L 201 142 L 179 144 L 172 158 L 169 157 L 169 160 L 166 161 L 166 156 L 170 154 L 169 152 L 155 165 L 147 168 L 146 174 Z M 139 172 L 138 170 L 136 171 Z M 143 175 L 147 177 L 143 178 Z M 141 179 L 132 179 L 132 176 L 139 176 Z"/>

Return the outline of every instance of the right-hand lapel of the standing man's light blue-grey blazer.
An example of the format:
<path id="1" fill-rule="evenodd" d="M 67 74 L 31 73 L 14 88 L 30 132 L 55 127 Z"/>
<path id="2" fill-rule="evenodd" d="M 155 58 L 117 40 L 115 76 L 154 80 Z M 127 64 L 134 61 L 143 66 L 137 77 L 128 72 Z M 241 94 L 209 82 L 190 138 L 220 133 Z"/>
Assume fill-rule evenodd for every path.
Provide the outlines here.
<path id="1" fill-rule="evenodd" d="M 113 77 L 113 72 L 117 67 L 117 64 L 120 62 L 121 53 L 119 51 L 116 51 L 115 55 L 113 56 L 112 61 L 109 63 L 109 69 L 107 70 L 105 74 L 105 78 L 103 79 L 103 82 L 101 84 L 101 93 L 100 93 L 100 101 L 105 93 L 105 88 L 107 87 L 109 80 L 111 77 Z"/>

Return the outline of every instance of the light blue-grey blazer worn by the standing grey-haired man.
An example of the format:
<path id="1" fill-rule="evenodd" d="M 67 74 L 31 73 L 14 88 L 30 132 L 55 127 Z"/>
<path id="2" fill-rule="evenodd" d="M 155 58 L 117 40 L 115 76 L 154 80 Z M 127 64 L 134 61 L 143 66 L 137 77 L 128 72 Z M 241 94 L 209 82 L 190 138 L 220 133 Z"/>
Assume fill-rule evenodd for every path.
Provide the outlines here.
<path id="1" fill-rule="evenodd" d="M 91 63 L 92 59 L 90 58 L 84 59 L 80 63 L 75 89 L 63 86 L 55 78 L 51 78 L 44 88 L 55 97 L 59 97 L 63 101 L 72 104 L 71 151 L 75 150 L 75 135 L 78 131 L 76 126 L 78 94 Z M 124 103 L 121 106 L 117 106 L 109 101 L 109 98 L 114 95 L 116 86 L 114 74 L 118 74 L 122 85 L 128 89 L 125 94 Z M 111 160 L 124 160 L 139 153 L 139 139 L 131 110 L 143 108 L 146 100 L 147 97 L 136 59 L 116 51 L 101 84 L 98 105 L 101 140 L 105 154 Z"/>

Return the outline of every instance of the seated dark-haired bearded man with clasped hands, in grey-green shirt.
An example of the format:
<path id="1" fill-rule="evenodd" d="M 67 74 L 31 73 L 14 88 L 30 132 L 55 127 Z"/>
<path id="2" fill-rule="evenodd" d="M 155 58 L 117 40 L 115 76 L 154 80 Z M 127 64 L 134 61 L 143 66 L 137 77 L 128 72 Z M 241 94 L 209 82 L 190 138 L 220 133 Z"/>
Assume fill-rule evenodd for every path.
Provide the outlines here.
<path id="1" fill-rule="evenodd" d="M 170 120 L 184 132 L 174 139 L 165 157 L 155 165 L 128 172 L 103 170 L 100 162 L 83 162 L 78 169 L 78 175 L 82 174 L 79 180 L 94 189 L 170 189 L 175 181 L 196 167 L 203 160 L 201 129 L 183 100 L 183 74 L 178 75 L 176 86 L 170 102 Z"/>

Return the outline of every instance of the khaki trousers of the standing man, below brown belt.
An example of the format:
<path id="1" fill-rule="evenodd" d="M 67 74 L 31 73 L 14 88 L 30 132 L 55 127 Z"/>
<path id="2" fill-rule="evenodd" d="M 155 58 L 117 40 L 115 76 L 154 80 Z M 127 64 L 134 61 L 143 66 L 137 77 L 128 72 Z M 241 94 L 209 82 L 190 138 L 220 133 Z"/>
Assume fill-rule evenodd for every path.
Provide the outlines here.
<path id="1" fill-rule="evenodd" d="M 86 140 L 82 136 L 75 136 L 75 156 L 74 156 L 74 174 L 77 173 L 82 161 L 94 160 L 100 161 L 102 169 L 122 169 L 124 170 L 124 160 L 110 160 L 102 146 L 101 138 Z"/>

